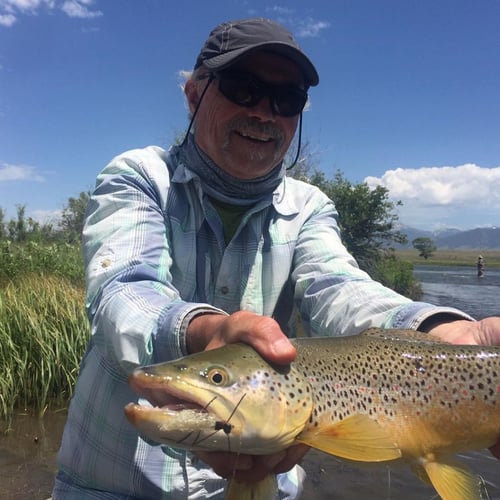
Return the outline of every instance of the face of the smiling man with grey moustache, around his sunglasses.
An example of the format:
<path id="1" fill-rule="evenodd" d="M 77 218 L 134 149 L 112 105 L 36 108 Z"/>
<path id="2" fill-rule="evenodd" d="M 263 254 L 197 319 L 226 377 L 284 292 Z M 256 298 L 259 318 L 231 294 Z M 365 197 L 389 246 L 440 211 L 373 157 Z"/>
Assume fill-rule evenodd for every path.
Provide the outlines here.
<path id="1" fill-rule="evenodd" d="M 303 88 L 298 66 L 276 54 L 255 52 L 231 67 L 264 83 L 293 84 Z M 207 80 L 186 83 L 186 95 L 194 111 Z M 298 115 L 273 113 L 268 97 L 243 107 L 224 97 L 214 80 L 195 119 L 198 146 L 223 170 L 240 179 L 261 177 L 285 156 L 297 127 Z"/>

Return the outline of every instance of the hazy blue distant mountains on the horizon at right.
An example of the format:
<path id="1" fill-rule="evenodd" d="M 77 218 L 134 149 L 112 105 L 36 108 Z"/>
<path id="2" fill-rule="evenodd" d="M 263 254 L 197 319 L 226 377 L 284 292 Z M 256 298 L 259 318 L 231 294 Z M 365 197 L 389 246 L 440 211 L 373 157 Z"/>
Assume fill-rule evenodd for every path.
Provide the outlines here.
<path id="1" fill-rule="evenodd" d="M 421 231 L 412 227 L 401 226 L 399 230 L 406 234 L 408 238 L 408 244 L 401 248 L 411 248 L 411 242 L 415 238 L 427 237 L 431 238 L 438 248 L 455 250 L 500 249 L 499 227 L 477 227 L 467 231 L 453 228 L 439 231 Z"/>

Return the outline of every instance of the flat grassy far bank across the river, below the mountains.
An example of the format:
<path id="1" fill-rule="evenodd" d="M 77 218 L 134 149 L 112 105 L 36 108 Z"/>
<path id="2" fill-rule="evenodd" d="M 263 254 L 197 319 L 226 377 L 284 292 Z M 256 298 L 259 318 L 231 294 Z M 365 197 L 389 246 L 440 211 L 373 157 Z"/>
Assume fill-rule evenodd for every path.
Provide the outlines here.
<path id="1" fill-rule="evenodd" d="M 476 267 L 477 257 L 482 255 L 486 268 L 500 268 L 500 249 L 498 250 L 450 250 L 438 249 L 431 257 L 419 257 L 414 248 L 396 250 L 396 255 L 402 260 L 412 264 L 425 264 L 429 266 L 468 266 Z"/>

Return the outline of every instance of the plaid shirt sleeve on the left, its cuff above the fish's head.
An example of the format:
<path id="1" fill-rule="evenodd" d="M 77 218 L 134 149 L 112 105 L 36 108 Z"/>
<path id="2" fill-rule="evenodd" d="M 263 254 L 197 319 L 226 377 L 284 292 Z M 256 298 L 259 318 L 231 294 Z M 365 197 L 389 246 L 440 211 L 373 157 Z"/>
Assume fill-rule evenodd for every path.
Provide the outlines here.
<path id="1" fill-rule="evenodd" d="M 187 354 L 189 319 L 223 311 L 185 302 L 172 284 L 164 207 L 166 153 L 134 150 L 99 174 L 83 231 L 92 341 L 126 371 Z"/>

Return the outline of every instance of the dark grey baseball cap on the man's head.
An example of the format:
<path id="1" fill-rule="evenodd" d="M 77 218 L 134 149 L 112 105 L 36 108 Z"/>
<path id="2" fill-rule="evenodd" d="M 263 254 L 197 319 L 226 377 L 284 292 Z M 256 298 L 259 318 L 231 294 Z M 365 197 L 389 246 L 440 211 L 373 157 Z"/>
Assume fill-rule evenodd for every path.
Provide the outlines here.
<path id="1" fill-rule="evenodd" d="M 307 86 L 318 85 L 316 68 L 292 34 L 280 24 L 264 18 L 229 21 L 217 26 L 201 49 L 194 67 L 203 64 L 208 69 L 222 70 L 254 50 L 274 52 L 292 60 L 302 70 Z"/>

